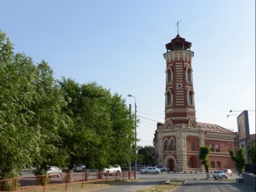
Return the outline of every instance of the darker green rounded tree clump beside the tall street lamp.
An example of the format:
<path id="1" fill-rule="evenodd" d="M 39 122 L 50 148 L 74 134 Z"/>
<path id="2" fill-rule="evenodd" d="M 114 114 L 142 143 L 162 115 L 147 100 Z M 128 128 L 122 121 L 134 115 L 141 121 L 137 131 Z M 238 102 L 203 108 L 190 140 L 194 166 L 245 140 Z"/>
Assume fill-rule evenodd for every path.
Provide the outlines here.
<path id="1" fill-rule="evenodd" d="M 61 132 L 69 151 L 70 168 L 74 163 L 101 170 L 110 164 L 130 160 L 133 126 L 124 99 L 95 82 L 79 85 L 72 79 L 59 81 L 67 107 L 63 112 L 73 126 Z"/>

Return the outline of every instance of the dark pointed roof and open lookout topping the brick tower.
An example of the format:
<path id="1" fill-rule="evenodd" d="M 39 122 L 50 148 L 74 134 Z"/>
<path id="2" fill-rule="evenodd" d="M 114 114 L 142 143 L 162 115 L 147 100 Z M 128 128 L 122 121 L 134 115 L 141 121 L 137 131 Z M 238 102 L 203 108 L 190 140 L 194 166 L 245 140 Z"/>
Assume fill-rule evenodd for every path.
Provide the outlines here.
<path id="1" fill-rule="evenodd" d="M 191 44 L 192 43 L 186 41 L 185 38 L 182 38 L 179 34 L 177 34 L 176 37 L 172 39 L 170 43 L 165 45 L 165 47 L 169 51 L 187 50 L 191 48 Z"/>

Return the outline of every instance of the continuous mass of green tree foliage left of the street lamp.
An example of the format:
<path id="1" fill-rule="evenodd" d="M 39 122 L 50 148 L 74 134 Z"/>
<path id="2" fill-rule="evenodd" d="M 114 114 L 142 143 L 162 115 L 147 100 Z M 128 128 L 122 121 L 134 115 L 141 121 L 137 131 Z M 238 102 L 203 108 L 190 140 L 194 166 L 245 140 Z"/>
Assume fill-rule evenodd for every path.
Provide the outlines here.
<path id="1" fill-rule="evenodd" d="M 48 63 L 13 52 L 0 31 L 0 172 L 15 177 L 34 163 L 102 169 L 134 158 L 134 115 L 96 82 L 55 80 Z M 132 118 L 130 118 L 132 116 Z"/>

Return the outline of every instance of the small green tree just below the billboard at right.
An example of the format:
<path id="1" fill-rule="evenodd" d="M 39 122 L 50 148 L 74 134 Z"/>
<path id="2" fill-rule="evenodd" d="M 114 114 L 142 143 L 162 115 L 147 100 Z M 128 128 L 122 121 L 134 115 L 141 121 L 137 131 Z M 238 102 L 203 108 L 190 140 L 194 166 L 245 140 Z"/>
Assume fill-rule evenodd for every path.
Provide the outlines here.
<path id="1" fill-rule="evenodd" d="M 235 167 L 238 171 L 238 174 L 241 174 L 246 163 L 244 148 L 238 149 L 236 154 L 235 151 L 230 150 L 229 155 L 232 161 L 235 163 Z"/>

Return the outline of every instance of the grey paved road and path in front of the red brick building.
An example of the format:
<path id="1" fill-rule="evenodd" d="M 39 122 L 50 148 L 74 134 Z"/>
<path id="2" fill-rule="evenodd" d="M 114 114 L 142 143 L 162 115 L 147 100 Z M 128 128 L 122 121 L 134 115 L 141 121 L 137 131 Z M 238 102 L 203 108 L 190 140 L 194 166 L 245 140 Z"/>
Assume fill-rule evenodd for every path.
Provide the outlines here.
<path id="1" fill-rule="evenodd" d="M 212 176 L 211 176 L 212 177 Z M 137 182 L 121 183 L 111 188 L 96 190 L 97 192 L 135 192 L 146 188 L 153 187 L 166 180 L 186 180 L 182 187 L 177 188 L 174 192 L 196 191 L 196 192 L 255 192 L 255 188 L 246 185 L 245 183 L 236 183 L 235 176 L 228 179 L 215 180 L 213 177 L 210 180 L 206 179 L 206 174 L 190 174 L 190 173 L 162 173 L 158 175 L 143 175 L 137 174 Z"/>

